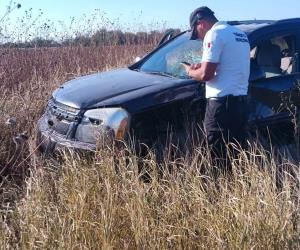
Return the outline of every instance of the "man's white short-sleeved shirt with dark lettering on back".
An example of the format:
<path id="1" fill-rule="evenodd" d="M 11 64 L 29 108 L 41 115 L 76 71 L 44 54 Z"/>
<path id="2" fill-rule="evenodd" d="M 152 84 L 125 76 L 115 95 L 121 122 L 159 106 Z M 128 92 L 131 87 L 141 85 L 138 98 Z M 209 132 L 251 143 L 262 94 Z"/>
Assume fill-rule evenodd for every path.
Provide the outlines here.
<path id="1" fill-rule="evenodd" d="M 217 22 L 205 35 L 203 62 L 218 64 L 215 77 L 206 82 L 206 98 L 247 95 L 250 45 L 243 31 Z"/>

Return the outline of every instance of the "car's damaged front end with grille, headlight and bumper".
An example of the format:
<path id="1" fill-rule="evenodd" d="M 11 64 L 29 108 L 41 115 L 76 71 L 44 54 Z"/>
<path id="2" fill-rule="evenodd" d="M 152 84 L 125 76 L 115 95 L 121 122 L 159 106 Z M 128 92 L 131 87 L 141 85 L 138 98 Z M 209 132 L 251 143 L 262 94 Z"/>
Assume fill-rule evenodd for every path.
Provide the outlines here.
<path id="1" fill-rule="evenodd" d="M 51 99 L 38 121 L 37 145 L 46 153 L 111 148 L 125 138 L 129 120 L 122 108 L 79 110 Z"/>

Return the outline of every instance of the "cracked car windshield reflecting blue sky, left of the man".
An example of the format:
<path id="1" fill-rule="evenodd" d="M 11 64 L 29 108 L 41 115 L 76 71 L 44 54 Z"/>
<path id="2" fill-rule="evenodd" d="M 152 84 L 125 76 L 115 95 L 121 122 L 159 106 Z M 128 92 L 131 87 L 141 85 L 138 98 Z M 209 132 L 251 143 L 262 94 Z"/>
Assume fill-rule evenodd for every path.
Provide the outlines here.
<path id="1" fill-rule="evenodd" d="M 177 78 L 189 78 L 181 62 L 200 63 L 202 41 L 190 40 L 186 32 L 156 51 L 140 67 L 140 71 L 169 75 Z"/>

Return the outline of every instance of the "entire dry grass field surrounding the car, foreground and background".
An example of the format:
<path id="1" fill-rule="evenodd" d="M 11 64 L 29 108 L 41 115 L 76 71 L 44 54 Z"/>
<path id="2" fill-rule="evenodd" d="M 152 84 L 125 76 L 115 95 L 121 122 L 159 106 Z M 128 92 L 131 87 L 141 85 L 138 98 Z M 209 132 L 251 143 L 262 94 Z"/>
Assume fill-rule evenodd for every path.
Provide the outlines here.
<path id="1" fill-rule="evenodd" d="M 202 148 L 166 157 L 163 169 L 172 171 L 163 177 L 149 153 L 143 161 L 151 183 L 140 180 L 134 154 L 128 164 L 119 153 L 119 175 L 111 151 L 65 153 L 59 161 L 37 154 L 36 122 L 55 88 L 130 64 L 152 47 L 0 50 L 2 249 L 300 247 L 299 166 L 283 151 L 252 144 L 233 162 L 233 174 L 218 180 Z"/>

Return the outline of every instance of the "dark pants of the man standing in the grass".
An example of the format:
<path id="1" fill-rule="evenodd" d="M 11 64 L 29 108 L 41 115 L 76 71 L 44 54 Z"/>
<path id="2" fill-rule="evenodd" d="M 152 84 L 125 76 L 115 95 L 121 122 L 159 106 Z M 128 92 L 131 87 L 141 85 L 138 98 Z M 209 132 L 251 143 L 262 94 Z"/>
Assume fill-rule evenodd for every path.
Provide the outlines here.
<path id="1" fill-rule="evenodd" d="M 207 99 L 204 128 L 213 164 L 219 170 L 231 170 L 230 160 L 237 154 L 232 143 L 245 147 L 247 114 L 246 96 Z"/>

